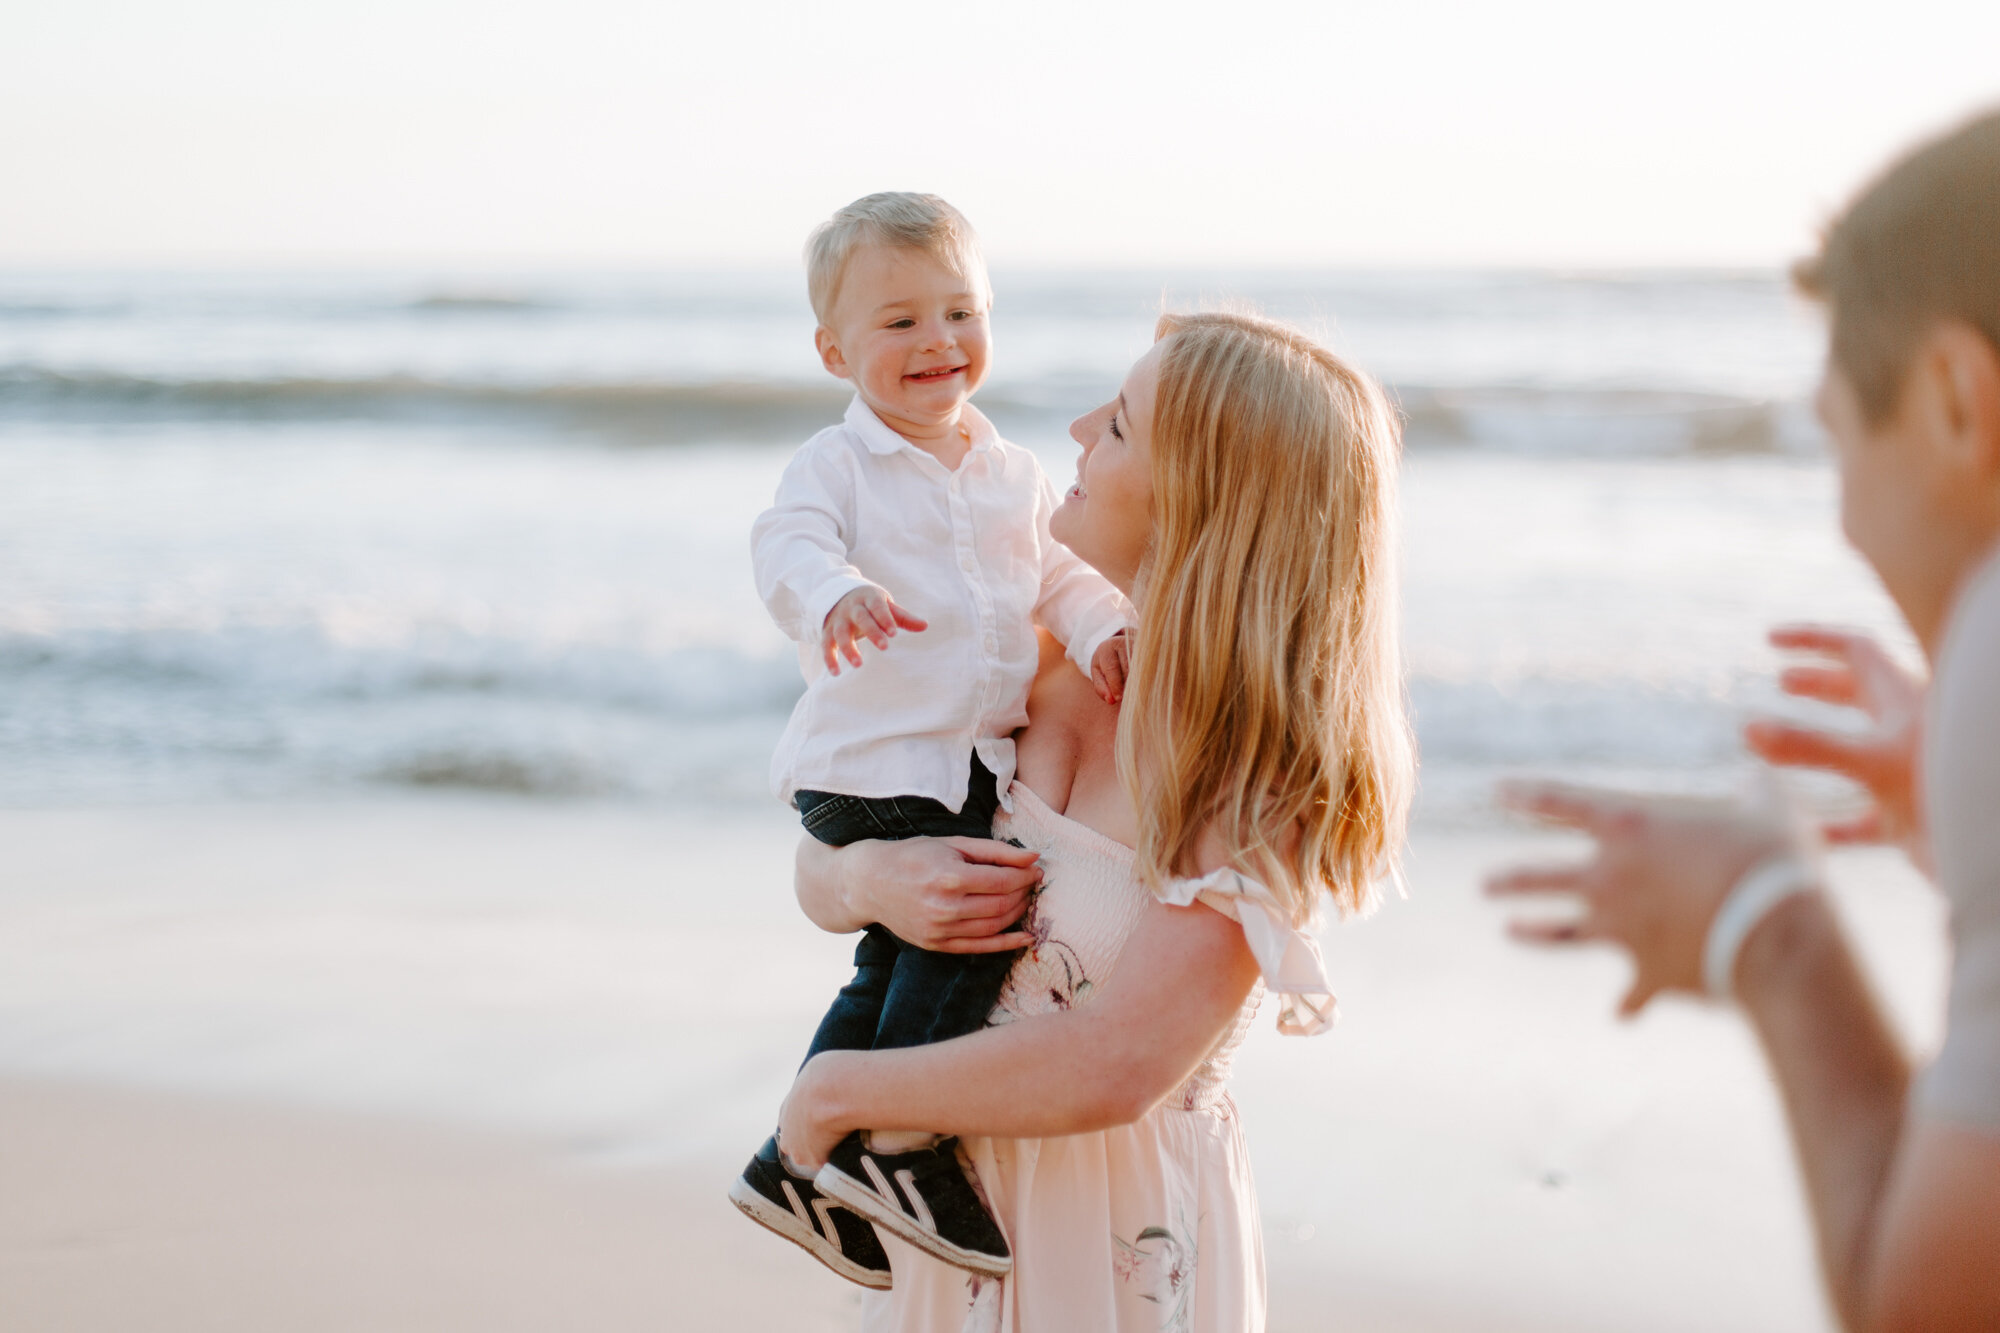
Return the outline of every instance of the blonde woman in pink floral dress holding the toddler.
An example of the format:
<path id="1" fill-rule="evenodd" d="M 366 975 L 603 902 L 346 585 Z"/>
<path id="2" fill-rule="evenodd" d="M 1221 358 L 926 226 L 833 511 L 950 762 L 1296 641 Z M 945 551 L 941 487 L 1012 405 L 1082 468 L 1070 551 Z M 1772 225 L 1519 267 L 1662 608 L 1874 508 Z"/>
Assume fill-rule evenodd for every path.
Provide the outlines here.
<path id="1" fill-rule="evenodd" d="M 1304 927 L 1322 895 L 1366 907 L 1402 837 L 1398 442 L 1380 390 L 1280 324 L 1168 316 L 1072 434 L 1078 484 L 1050 528 L 1140 626 L 1120 707 L 1044 656 L 996 827 L 1040 857 L 1026 919 L 992 935 L 1018 901 L 1014 849 L 800 851 L 800 901 L 830 931 L 940 941 L 970 933 L 944 921 L 964 915 L 990 939 L 954 947 L 1028 945 L 992 1027 L 820 1055 L 786 1101 L 800 1165 L 860 1127 L 962 1135 L 1012 1245 L 1012 1277 L 982 1285 L 884 1237 L 894 1289 L 868 1297 L 868 1329 L 950 1329 L 968 1305 L 972 1327 L 1030 1333 L 1262 1327 L 1230 1057 L 1264 987 L 1282 1031 L 1332 1021 Z M 984 861 L 1000 883 L 980 887 L 1000 893 L 948 893 L 924 857 Z"/>

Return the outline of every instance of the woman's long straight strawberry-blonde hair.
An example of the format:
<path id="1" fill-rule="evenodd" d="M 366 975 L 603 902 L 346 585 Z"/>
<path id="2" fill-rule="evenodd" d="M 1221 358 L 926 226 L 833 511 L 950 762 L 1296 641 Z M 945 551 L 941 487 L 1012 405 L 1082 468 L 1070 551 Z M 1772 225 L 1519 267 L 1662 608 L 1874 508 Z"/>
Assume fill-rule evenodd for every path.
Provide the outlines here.
<path id="1" fill-rule="evenodd" d="M 1218 839 L 1306 925 L 1366 911 L 1402 847 L 1414 743 L 1396 626 L 1400 436 L 1382 390 L 1246 314 L 1158 326 L 1152 544 L 1118 771 L 1140 875 Z"/>

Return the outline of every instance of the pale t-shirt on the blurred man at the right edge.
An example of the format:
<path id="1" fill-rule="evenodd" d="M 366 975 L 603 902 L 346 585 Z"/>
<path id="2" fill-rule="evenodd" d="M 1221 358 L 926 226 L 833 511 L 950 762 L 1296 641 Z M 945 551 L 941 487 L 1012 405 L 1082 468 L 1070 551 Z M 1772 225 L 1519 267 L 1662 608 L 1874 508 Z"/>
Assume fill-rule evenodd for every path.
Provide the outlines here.
<path id="1" fill-rule="evenodd" d="M 2000 550 L 1952 608 L 1924 729 L 1922 799 L 1952 909 L 1952 995 L 1916 1105 L 2000 1133 Z"/>

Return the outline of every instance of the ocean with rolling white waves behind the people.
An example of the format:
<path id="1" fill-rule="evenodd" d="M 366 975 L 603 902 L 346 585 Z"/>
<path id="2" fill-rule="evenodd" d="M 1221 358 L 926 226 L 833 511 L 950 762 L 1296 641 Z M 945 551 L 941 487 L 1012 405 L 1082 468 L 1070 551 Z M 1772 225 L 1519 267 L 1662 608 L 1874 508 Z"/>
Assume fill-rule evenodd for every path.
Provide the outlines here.
<path id="1" fill-rule="evenodd" d="M 1406 420 L 1420 821 L 1506 773 L 1706 789 L 1764 628 L 1896 636 L 1774 272 L 994 274 L 980 406 L 1066 478 L 1162 308 Z M 0 274 L 0 803 L 768 801 L 748 528 L 844 392 L 792 272 Z"/>

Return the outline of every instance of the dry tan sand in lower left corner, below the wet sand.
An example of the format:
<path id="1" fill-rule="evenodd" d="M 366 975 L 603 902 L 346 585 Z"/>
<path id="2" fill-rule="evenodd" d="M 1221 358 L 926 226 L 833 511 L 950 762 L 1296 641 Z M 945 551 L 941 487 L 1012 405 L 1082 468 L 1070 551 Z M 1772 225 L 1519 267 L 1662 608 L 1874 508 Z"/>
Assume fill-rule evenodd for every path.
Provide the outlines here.
<path id="1" fill-rule="evenodd" d="M 0 1327 L 800 1329 L 858 1297 L 694 1171 L 492 1135 L 0 1083 Z"/>

